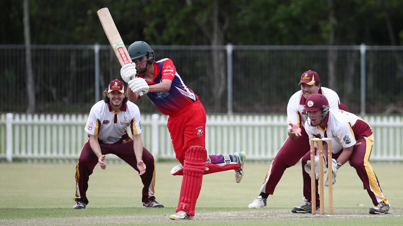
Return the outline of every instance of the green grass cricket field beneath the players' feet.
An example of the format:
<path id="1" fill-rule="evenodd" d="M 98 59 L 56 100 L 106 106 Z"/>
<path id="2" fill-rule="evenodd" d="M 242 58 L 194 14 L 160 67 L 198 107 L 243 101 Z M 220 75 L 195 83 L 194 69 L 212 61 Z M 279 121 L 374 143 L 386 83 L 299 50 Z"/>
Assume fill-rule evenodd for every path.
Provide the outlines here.
<path id="1" fill-rule="evenodd" d="M 258 195 L 268 164 L 246 163 L 245 177 L 235 183 L 234 171 L 206 175 L 192 221 L 172 221 L 181 176 L 170 175 L 175 162 L 157 162 L 156 198 L 166 208 L 141 208 L 141 180 L 127 164 L 96 166 L 89 179 L 85 210 L 73 210 L 75 164 L 0 164 L 0 225 L 401 225 L 403 164 L 373 163 L 391 214 L 371 216 L 372 201 L 354 168 L 340 168 L 333 187 L 335 216 L 292 214 L 303 203 L 301 165 L 285 171 L 268 208 L 249 210 Z M 325 213 L 327 189 L 325 187 Z M 79 222 L 79 223 L 78 223 Z"/>

